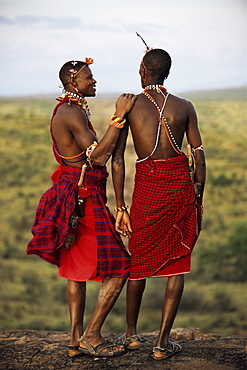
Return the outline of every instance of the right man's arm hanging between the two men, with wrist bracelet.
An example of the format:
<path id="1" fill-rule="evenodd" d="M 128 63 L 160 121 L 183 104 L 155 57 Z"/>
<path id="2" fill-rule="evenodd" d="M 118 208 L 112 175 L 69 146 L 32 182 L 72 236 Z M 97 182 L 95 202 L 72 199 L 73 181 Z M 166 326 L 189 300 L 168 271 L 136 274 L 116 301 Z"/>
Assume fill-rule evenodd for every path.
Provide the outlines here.
<path id="1" fill-rule="evenodd" d="M 122 129 L 118 139 L 117 146 L 112 154 L 112 182 L 116 198 L 116 230 L 123 236 L 129 238 L 132 232 L 130 218 L 124 201 L 124 183 L 125 183 L 125 162 L 124 152 L 126 148 L 126 140 L 128 137 L 128 125 Z"/>

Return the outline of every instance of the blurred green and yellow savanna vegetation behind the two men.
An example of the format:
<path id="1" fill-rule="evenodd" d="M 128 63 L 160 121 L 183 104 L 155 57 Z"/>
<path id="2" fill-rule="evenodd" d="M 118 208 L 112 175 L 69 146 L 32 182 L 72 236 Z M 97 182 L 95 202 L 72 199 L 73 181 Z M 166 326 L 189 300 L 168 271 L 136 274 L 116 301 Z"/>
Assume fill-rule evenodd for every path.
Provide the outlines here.
<path id="1" fill-rule="evenodd" d="M 214 95 L 213 95 L 214 96 Z M 175 327 L 246 335 L 247 181 L 244 99 L 195 100 L 207 158 L 203 231 L 193 253 L 191 274 Z M 69 330 L 66 281 L 37 256 L 26 256 L 34 213 L 56 168 L 49 136 L 53 99 L 0 100 L 0 330 Z M 102 137 L 114 109 L 112 99 L 90 99 L 92 121 Z M 127 145 L 126 202 L 131 203 L 135 154 Z M 114 195 L 109 179 L 108 204 Z M 165 279 L 150 279 L 139 330 L 157 330 Z M 86 320 L 100 284 L 88 283 Z M 125 292 L 104 325 L 124 330 Z"/>

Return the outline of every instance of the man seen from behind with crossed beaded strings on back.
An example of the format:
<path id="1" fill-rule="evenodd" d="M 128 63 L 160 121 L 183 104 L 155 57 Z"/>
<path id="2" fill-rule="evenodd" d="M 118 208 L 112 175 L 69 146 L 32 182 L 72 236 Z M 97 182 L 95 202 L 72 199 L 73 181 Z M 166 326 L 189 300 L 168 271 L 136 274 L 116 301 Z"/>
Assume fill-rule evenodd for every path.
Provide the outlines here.
<path id="1" fill-rule="evenodd" d="M 127 116 L 138 157 L 130 220 L 123 196 L 127 125 L 112 158 L 116 230 L 130 237 L 131 254 L 127 330 L 116 343 L 126 349 L 140 347 L 136 325 L 145 279 L 168 277 L 160 331 L 153 348 L 155 360 L 181 350 L 181 346 L 169 341 L 169 334 L 184 288 L 184 273 L 190 272 L 192 249 L 201 230 L 205 183 L 205 158 L 195 109 L 163 86 L 170 67 L 166 51 L 150 48 L 140 65 L 144 90 Z M 187 157 L 181 151 L 184 134 L 195 155 L 194 183 Z"/>

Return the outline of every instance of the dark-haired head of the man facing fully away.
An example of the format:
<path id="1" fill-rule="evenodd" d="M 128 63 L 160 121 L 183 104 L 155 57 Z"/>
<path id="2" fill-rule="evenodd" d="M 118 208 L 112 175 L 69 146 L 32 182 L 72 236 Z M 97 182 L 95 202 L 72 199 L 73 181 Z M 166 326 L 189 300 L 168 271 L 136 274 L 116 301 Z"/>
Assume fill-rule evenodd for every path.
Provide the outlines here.
<path id="1" fill-rule="evenodd" d="M 172 60 L 162 49 L 151 49 L 143 57 L 140 66 L 142 87 L 148 84 L 163 84 L 169 75 Z"/>

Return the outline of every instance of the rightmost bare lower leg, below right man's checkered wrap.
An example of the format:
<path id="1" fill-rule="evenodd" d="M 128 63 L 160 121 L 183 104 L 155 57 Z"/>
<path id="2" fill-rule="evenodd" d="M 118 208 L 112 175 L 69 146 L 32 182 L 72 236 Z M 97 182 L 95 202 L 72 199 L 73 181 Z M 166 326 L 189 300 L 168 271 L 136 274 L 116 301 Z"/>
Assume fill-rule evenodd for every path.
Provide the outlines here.
<path id="1" fill-rule="evenodd" d="M 178 306 L 184 289 L 184 275 L 168 278 L 163 304 L 160 332 L 156 347 L 165 348 L 168 345 L 169 334 L 175 320 Z M 161 356 L 162 357 L 162 356 Z"/>

